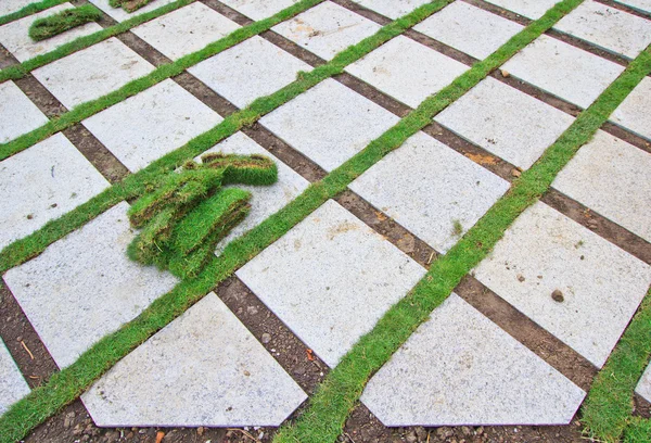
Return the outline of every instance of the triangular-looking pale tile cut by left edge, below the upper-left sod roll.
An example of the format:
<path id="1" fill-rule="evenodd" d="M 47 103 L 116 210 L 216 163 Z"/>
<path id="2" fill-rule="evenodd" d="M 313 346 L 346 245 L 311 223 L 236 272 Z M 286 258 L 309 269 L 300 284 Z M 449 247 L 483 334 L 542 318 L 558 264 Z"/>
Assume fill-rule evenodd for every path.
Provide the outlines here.
<path id="1" fill-rule="evenodd" d="M 48 122 L 48 117 L 13 81 L 0 84 L 0 143 L 7 143 Z"/>

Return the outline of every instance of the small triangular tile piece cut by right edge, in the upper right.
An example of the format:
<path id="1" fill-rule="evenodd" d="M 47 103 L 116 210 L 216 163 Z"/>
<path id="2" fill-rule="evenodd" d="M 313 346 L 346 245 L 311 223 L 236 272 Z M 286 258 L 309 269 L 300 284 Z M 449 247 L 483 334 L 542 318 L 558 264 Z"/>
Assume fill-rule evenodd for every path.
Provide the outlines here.
<path id="1" fill-rule="evenodd" d="M 651 141 L 651 78 L 642 81 L 611 114 L 611 122 Z"/>

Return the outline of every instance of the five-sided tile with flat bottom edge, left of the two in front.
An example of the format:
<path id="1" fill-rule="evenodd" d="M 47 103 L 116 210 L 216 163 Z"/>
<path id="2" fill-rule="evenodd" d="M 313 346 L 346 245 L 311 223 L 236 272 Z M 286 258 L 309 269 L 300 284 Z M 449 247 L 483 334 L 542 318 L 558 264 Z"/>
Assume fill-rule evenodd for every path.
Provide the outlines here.
<path id="1" fill-rule="evenodd" d="M 279 426 L 307 395 L 209 293 L 81 396 L 106 427 Z"/>

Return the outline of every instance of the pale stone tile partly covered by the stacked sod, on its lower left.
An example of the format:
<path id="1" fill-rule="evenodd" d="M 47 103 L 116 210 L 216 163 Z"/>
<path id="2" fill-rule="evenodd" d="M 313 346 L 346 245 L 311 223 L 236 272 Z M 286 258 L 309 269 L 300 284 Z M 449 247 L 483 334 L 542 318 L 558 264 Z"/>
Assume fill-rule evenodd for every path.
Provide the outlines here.
<path id="1" fill-rule="evenodd" d="M 60 368 L 177 283 L 170 274 L 127 257 L 136 237 L 128 207 L 119 203 L 4 275 Z"/>

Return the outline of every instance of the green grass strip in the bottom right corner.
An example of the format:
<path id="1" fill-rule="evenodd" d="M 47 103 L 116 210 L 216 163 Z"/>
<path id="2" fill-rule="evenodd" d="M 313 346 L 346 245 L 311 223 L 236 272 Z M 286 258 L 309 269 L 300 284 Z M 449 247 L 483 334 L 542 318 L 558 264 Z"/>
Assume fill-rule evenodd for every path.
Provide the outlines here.
<path id="1" fill-rule="evenodd" d="M 634 390 L 651 357 L 651 290 L 628 325 L 583 406 L 589 436 L 605 442 L 651 441 L 650 421 L 633 417 Z M 627 429 L 630 427 L 630 429 Z M 647 440 L 641 439 L 646 435 Z M 636 440 L 637 436 L 640 439 Z"/>

